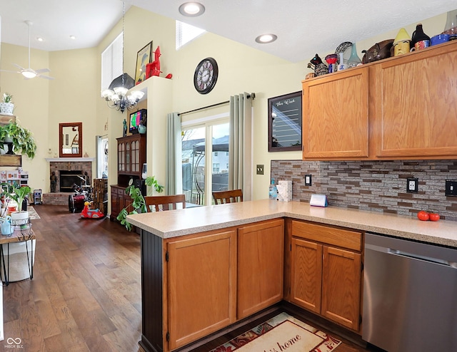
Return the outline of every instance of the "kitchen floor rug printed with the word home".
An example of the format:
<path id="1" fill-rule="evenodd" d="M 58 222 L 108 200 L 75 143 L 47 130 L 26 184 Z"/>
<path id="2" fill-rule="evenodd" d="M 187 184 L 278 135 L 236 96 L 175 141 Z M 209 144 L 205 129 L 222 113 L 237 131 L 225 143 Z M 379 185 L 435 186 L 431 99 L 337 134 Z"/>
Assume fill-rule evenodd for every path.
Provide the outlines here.
<path id="1" fill-rule="evenodd" d="M 211 352 L 329 352 L 341 341 L 281 313 Z"/>

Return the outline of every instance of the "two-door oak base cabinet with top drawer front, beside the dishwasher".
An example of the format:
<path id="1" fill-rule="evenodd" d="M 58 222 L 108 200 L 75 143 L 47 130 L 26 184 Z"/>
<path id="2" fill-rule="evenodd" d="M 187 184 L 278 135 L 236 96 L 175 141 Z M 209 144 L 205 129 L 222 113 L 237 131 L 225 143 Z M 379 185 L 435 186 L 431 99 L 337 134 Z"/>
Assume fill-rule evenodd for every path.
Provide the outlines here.
<path id="1" fill-rule="evenodd" d="M 292 221 L 290 301 L 359 330 L 363 233 Z"/>

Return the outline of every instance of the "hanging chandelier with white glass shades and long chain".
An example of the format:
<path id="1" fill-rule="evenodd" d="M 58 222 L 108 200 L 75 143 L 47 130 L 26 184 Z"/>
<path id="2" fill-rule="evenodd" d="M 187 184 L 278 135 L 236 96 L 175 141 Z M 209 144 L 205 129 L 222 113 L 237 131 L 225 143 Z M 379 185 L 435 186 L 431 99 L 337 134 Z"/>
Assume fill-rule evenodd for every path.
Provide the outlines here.
<path id="1" fill-rule="evenodd" d="M 125 28 L 125 3 L 122 1 L 122 70 L 124 71 L 124 28 Z M 116 110 L 121 110 L 121 113 L 124 113 L 124 110 L 134 109 L 136 104 L 141 98 L 143 98 L 144 92 L 140 90 L 135 90 L 127 95 L 127 92 L 130 88 L 135 86 L 134 78 L 129 76 L 129 73 L 122 73 L 121 76 L 114 78 L 114 80 L 109 85 L 108 89 L 104 90 L 101 93 L 101 96 L 105 98 L 106 103 L 110 108 Z"/>

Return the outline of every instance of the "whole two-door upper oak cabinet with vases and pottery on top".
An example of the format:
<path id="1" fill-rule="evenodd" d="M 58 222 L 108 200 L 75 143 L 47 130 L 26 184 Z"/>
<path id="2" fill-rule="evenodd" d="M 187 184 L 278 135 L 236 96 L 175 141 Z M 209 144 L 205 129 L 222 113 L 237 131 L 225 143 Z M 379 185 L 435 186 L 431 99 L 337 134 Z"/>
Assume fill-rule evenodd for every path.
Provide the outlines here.
<path id="1" fill-rule="evenodd" d="M 457 41 L 302 81 L 303 160 L 457 157 Z"/>

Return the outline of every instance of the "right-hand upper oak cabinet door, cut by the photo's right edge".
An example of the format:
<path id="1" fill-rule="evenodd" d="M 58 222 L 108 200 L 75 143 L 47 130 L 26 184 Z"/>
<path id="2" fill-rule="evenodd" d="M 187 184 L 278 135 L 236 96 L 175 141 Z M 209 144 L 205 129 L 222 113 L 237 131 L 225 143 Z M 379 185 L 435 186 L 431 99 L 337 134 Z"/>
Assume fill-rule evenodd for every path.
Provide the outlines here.
<path id="1" fill-rule="evenodd" d="M 380 62 L 376 70 L 376 155 L 457 155 L 457 45 Z"/>

